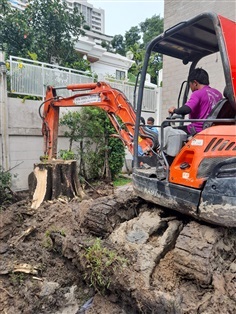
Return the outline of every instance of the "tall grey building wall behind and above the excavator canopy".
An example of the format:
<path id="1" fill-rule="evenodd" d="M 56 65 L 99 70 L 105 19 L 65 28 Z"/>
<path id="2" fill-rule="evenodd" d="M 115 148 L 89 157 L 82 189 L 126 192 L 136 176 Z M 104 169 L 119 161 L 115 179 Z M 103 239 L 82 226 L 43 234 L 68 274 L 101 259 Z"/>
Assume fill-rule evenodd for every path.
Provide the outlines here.
<path id="1" fill-rule="evenodd" d="M 165 0 L 164 6 L 164 28 L 188 20 L 197 14 L 204 12 L 215 12 L 229 19 L 236 20 L 236 1 L 212 0 L 212 1 L 185 1 Z M 219 53 L 207 57 L 204 62 L 198 64 L 206 69 L 210 76 L 210 85 L 223 92 L 225 87 L 224 75 Z M 188 65 L 182 61 L 164 57 L 163 62 L 163 90 L 162 90 L 162 119 L 167 117 L 167 109 L 170 106 L 177 106 L 178 93 L 181 83 L 186 80 L 189 70 Z"/>

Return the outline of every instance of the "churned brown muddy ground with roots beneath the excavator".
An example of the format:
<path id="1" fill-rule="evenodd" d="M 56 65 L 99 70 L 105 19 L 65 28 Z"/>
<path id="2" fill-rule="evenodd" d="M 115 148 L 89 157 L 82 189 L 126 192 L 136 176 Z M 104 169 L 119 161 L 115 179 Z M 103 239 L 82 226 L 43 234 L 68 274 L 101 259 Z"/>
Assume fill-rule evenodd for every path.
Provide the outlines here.
<path id="1" fill-rule="evenodd" d="M 97 192 L 1 211 L 0 313 L 235 313 L 235 229 Z"/>

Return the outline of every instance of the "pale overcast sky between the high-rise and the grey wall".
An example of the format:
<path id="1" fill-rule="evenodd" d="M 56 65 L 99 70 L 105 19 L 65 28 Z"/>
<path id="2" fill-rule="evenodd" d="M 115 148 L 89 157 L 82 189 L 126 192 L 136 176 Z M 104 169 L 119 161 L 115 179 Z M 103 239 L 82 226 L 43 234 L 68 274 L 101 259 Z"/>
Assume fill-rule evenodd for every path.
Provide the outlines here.
<path id="1" fill-rule="evenodd" d="M 153 15 L 164 16 L 164 0 L 88 0 L 95 8 L 105 10 L 105 34 L 124 36 Z"/>

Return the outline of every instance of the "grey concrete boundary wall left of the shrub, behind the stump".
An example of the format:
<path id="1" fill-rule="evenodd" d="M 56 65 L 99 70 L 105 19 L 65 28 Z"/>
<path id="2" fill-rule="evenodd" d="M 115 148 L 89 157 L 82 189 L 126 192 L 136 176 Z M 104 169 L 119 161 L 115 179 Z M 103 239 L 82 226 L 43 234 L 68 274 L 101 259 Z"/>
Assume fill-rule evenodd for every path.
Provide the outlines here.
<path id="1" fill-rule="evenodd" d="M 18 98 L 7 98 L 7 153 L 9 168 L 12 169 L 10 172 L 13 175 L 13 190 L 28 188 L 28 175 L 33 171 L 34 163 L 39 162 L 40 156 L 43 155 L 42 121 L 38 114 L 40 104 L 40 101 L 26 100 L 23 103 Z M 1 140 L 0 134 L 0 142 Z M 68 139 L 59 138 L 58 150 L 60 149 L 68 149 Z M 2 156 L 2 149 L 0 153 Z"/>

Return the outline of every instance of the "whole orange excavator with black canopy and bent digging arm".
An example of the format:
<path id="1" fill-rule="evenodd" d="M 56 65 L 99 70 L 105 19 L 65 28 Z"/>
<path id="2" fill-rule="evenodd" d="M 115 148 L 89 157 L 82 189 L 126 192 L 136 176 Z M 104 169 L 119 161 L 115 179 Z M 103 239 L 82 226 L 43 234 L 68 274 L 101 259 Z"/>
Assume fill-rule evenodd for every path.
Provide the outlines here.
<path id="1" fill-rule="evenodd" d="M 196 120 L 171 117 L 160 127 L 159 141 L 140 125 L 149 59 L 159 53 L 182 60 L 189 73 L 198 62 L 220 53 L 224 99 L 215 105 L 201 132 L 174 138 L 172 123 Z M 70 85 L 75 95 L 62 98 L 48 87 L 43 113 L 45 153 L 56 157 L 59 107 L 98 106 L 105 110 L 121 140 L 134 156 L 133 188 L 137 196 L 208 223 L 236 227 L 236 24 L 215 13 L 179 23 L 153 39 L 146 50 L 137 110 L 106 83 Z M 182 103 L 187 101 L 186 85 Z M 122 125 L 119 124 L 118 116 Z M 166 132 L 168 130 L 168 132 Z M 160 142 L 160 145 L 159 145 Z M 146 152 L 139 156 L 138 145 Z M 171 149 L 170 149 L 171 148 Z M 169 162 L 168 154 L 172 156 Z M 148 167 L 140 167 L 145 162 Z"/>

